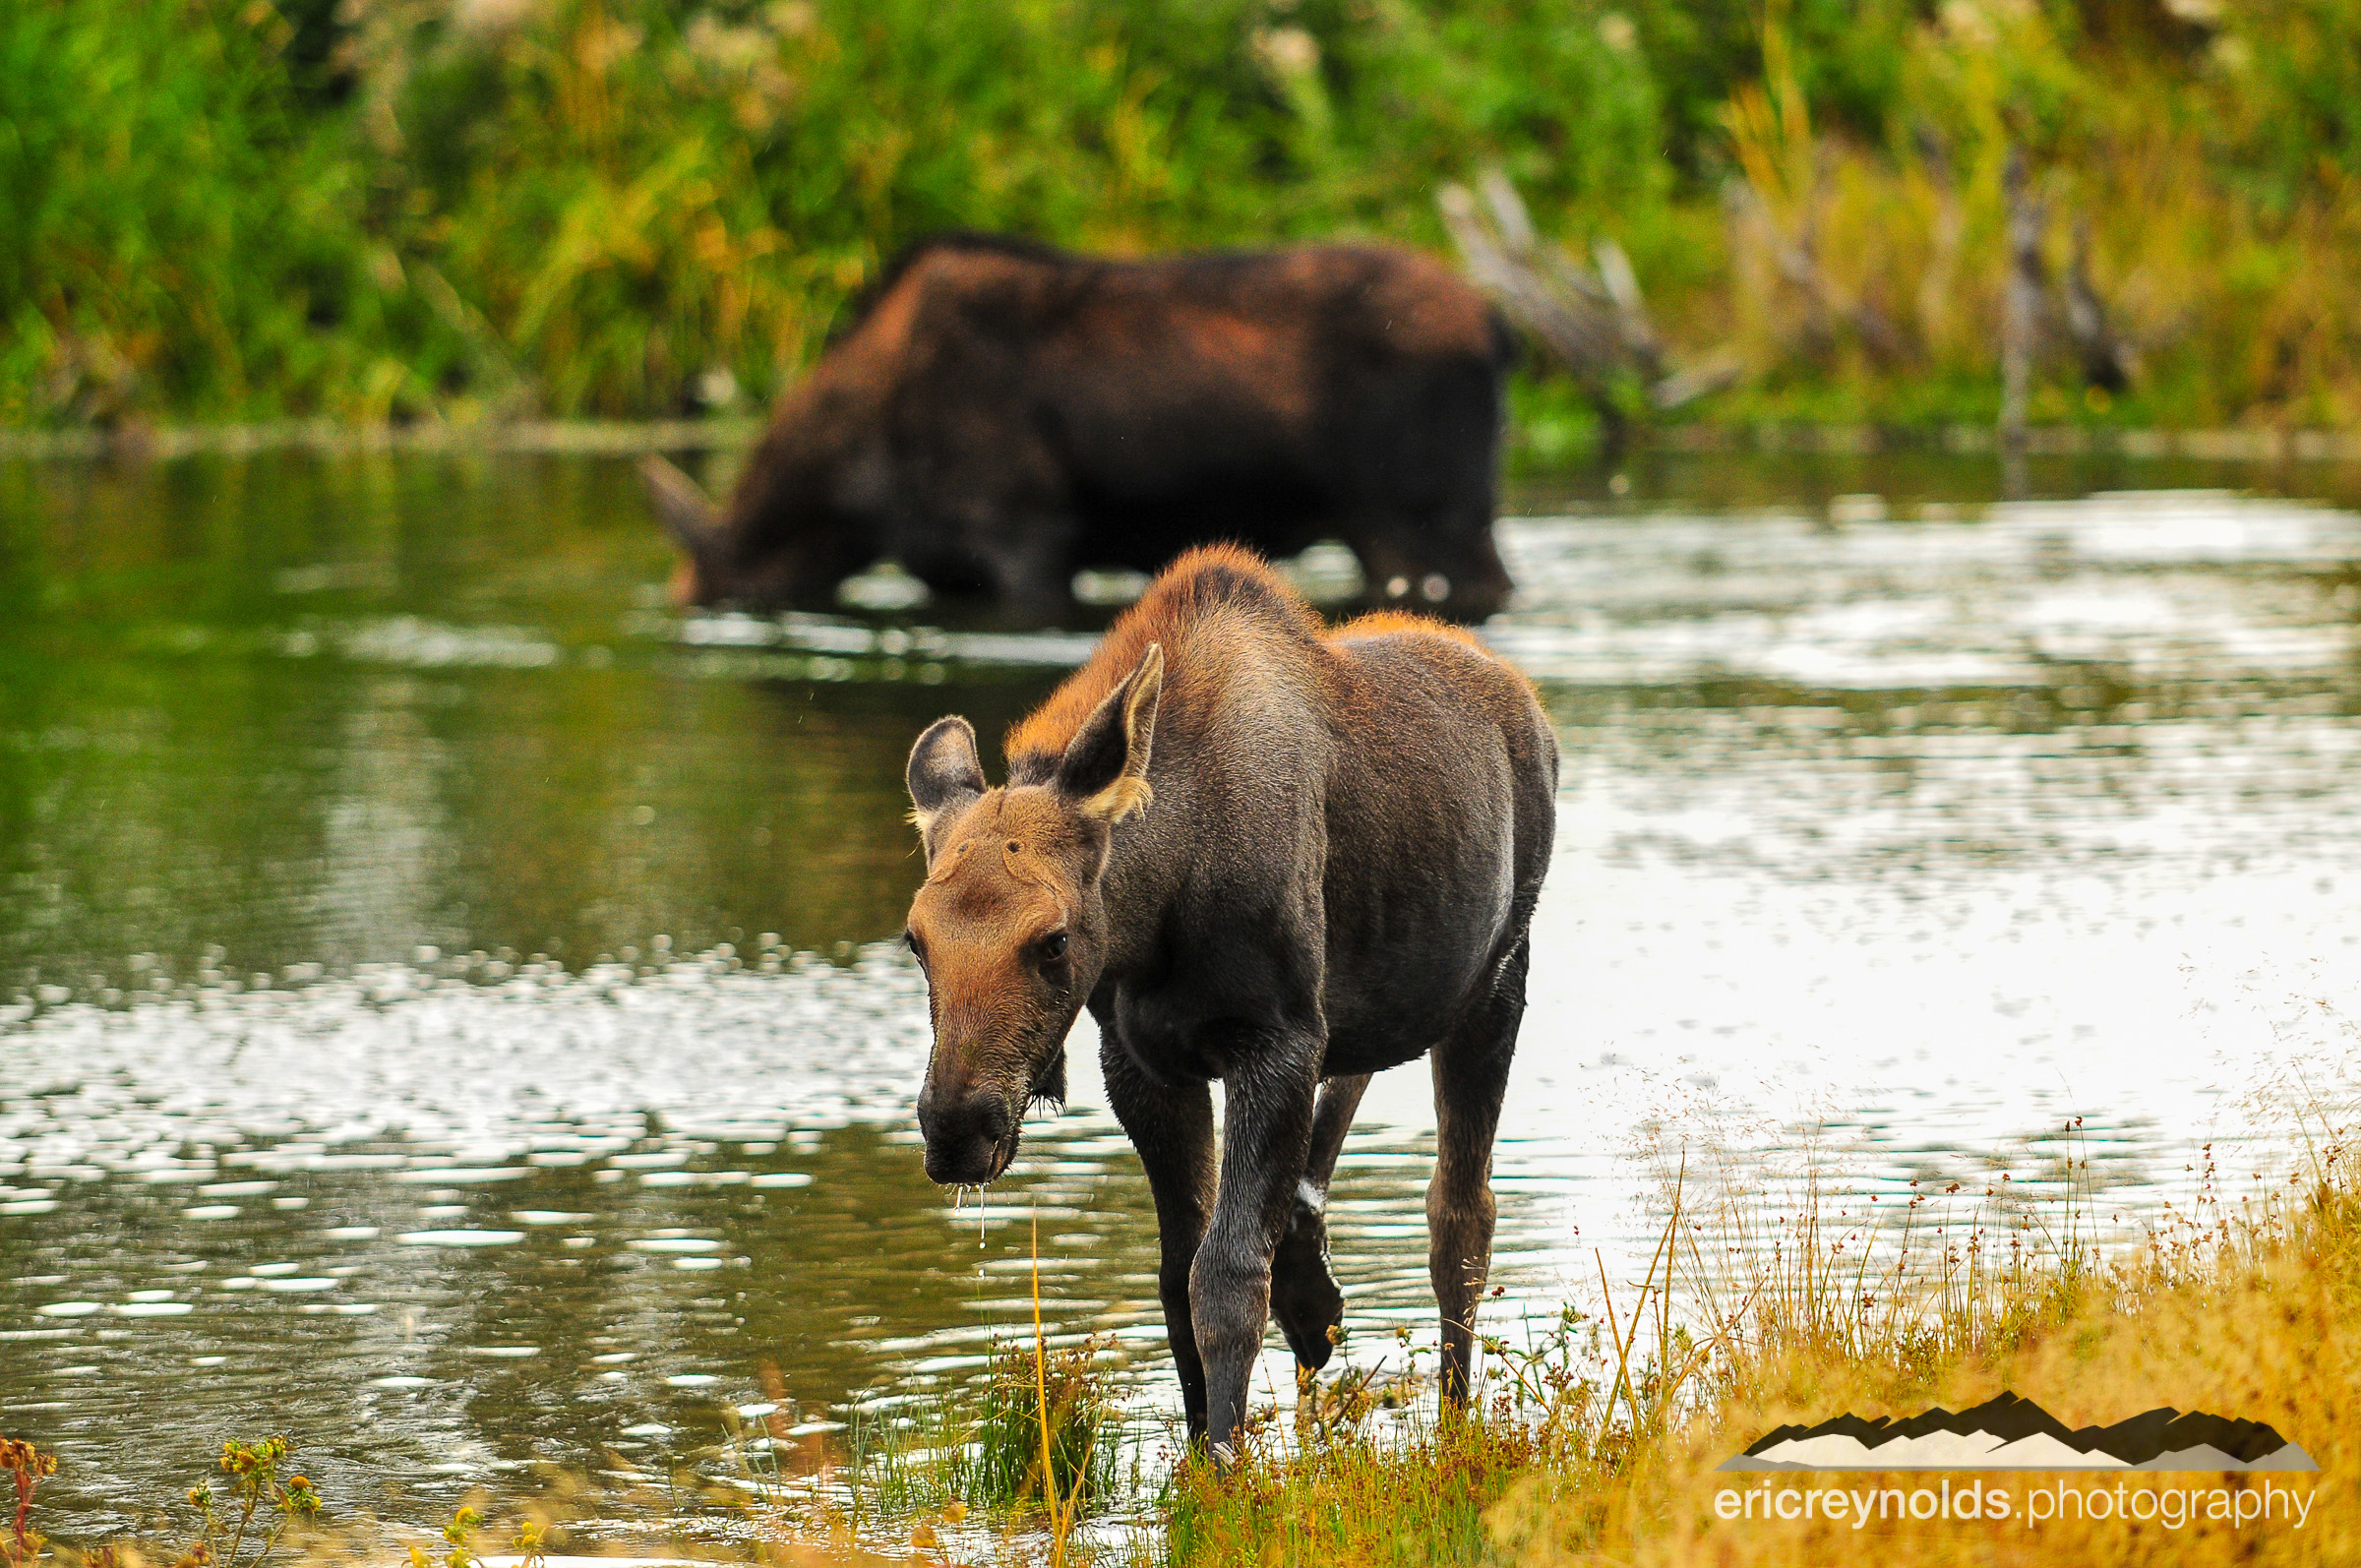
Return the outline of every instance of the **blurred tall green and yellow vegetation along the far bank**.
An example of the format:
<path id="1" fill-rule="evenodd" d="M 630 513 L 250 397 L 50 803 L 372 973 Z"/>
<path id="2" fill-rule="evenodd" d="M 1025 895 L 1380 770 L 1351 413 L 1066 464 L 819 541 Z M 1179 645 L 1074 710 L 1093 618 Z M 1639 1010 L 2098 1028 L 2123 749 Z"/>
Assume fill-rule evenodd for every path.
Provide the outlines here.
<path id="1" fill-rule="evenodd" d="M 2342 420 L 2356 104 L 2354 0 L 17 0 L 0 423 L 760 401 L 928 229 L 1438 246 L 1483 165 L 1709 416 L 1981 416 L 2009 149 L 2118 416 Z"/>

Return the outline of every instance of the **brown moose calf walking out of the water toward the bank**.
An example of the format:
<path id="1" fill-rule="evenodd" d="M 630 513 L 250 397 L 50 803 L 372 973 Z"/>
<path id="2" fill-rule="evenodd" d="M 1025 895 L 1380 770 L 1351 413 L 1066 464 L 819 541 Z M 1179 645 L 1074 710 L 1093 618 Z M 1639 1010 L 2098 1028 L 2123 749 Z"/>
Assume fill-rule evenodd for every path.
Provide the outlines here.
<path id="1" fill-rule="evenodd" d="M 1327 1360 L 1327 1183 L 1369 1074 L 1428 1053 L 1428 1268 L 1443 1393 L 1466 1398 L 1556 775 L 1532 687 L 1466 633 L 1327 631 L 1232 548 L 1176 562 L 1011 732 L 1006 786 L 963 718 L 911 749 L 928 1176 L 1008 1169 L 1088 1006 L 1155 1190 L 1190 1431 L 1221 1450 L 1265 1318 Z"/>

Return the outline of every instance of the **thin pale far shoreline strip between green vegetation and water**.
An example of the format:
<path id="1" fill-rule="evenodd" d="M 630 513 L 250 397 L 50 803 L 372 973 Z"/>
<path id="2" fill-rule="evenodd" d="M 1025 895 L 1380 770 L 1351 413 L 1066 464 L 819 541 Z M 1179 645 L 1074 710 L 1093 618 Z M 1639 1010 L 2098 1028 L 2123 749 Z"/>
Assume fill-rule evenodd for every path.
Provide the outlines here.
<path id="1" fill-rule="evenodd" d="M 685 420 L 517 420 L 449 425 L 342 425 L 338 420 L 264 420 L 248 425 L 118 425 L 113 430 L 0 430 L 0 460 L 127 460 L 161 463 L 189 456 L 257 456 L 314 451 L 352 456 L 375 451 L 552 453 L 633 458 L 656 451 L 727 451 L 751 444 L 763 418 Z M 1669 425 L 1641 430 L 1634 451 L 1681 456 L 1811 453 L 1865 458 L 1879 453 L 2002 456 L 1993 425 Z M 1601 453 L 1594 453 L 1601 456 Z M 2215 427 L 2108 430 L 2040 425 L 2026 432 L 2023 456 L 2191 458 L 2205 463 L 2361 463 L 2361 430 Z M 1554 465 L 1561 468 L 1561 465 Z M 1570 465 L 1563 465 L 1570 468 Z"/>

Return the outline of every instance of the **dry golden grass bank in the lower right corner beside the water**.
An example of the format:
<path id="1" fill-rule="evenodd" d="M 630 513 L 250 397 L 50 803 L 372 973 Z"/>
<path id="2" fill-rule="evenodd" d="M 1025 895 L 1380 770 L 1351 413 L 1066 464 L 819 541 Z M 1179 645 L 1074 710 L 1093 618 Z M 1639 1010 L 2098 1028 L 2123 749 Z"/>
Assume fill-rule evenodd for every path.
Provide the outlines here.
<path id="1" fill-rule="evenodd" d="M 2224 1216 L 2210 1164 L 2196 1207 L 2130 1256 L 2087 1242 L 2087 1188 L 2012 1200 L 1943 1193 L 1865 1221 L 1811 1171 L 1766 1207 L 1757 1183 L 1686 1171 L 1712 1209 L 1674 1209 L 1657 1266 L 1613 1318 L 1575 1313 L 1525 1353 L 1492 1355 L 1487 1407 L 1461 1424 L 1273 1445 L 1242 1476 L 1176 1483 L 1176 1563 L 2347 1563 L 2361 1561 L 2361 1190 L 2337 1117 L 2307 1110 L 2304 1169 Z M 2075 1148 L 2071 1141 L 2066 1148 Z M 2059 1162 L 2061 1176 L 2080 1162 Z M 1957 1204 L 1957 1207 L 1948 1207 Z M 1941 1228 L 1941 1230 L 1938 1230 Z M 1705 1237 L 1714 1237 L 1707 1242 Z M 1681 1254 L 1674 1270 L 1665 1256 Z M 1714 1254 L 1714 1256 L 1709 1256 Z M 1683 1301 L 1683 1332 L 1667 1301 Z M 1610 1325 L 1610 1327 L 1608 1327 Z M 1601 1327 L 1605 1332 L 1601 1332 Z M 2012 1492 L 2007 1521 L 1724 1521 L 1716 1492 L 1759 1474 L 1716 1464 L 1780 1424 L 1910 1417 L 2012 1391 L 2068 1426 L 2156 1405 L 2267 1422 L 2314 1474 L 1853 1474 L 1778 1488 Z M 2028 1521 L 2028 1492 L 2200 1492 L 2182 1528 Z M 2309 1500 L 2243 1525 L 2243 1483 Z M 2052 1492 L 2054 1500 L 2054 1492 Z M 2184 1500 L 2186 1507 L 2186 1500 Z M 2255 1502 L 2245 1504 L 2252 1514 Z"/>

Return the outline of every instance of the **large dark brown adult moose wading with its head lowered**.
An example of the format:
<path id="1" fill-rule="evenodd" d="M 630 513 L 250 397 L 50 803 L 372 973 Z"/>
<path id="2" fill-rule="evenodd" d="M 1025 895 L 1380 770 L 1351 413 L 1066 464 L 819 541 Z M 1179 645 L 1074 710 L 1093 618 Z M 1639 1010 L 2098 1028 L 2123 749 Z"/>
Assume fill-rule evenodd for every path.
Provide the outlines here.
<path id="1" fill-rule="evenodd" d="M 1327 536 L 1369 595 L 1499 607 L 1509 338 L 1405 250 L 1143 262 L 949 234 L 885 269 L 711 508 L 652 460 L 685 602 L 826 602 L 892 557 L 937 593 L 1058 616 L 1081 567 Z"/>

